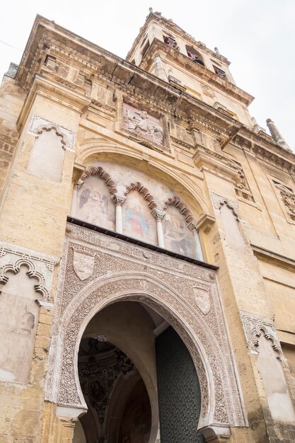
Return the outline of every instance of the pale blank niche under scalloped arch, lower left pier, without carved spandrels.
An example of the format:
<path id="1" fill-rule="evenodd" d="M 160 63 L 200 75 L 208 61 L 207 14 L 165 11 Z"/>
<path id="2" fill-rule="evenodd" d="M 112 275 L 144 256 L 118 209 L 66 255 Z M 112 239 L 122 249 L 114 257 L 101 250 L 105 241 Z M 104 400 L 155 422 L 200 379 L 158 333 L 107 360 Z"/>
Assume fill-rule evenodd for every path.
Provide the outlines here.
<path id="1" fill-rule="evenodd" d="M 28 260 L 6 265 L 0 275 L 0 379 L 25 384 L 39 318 L 37 292 L 44 279 Z M 39 294 L 40 297 L 40 294 Z"/>

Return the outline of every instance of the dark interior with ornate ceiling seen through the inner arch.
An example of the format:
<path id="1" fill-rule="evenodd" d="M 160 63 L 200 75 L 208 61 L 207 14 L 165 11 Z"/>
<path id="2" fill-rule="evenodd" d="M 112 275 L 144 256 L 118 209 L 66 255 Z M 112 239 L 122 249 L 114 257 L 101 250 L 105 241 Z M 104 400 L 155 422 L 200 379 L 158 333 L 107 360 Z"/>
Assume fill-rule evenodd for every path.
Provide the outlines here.
<path id="1" fill-rule="evenodd" d="M 148 443 L 149 396 L 127 355 L 103 337 L 86 338 L 81 340 L 78 369 L 88 405 L 80 419 L 86 443 Z"/>

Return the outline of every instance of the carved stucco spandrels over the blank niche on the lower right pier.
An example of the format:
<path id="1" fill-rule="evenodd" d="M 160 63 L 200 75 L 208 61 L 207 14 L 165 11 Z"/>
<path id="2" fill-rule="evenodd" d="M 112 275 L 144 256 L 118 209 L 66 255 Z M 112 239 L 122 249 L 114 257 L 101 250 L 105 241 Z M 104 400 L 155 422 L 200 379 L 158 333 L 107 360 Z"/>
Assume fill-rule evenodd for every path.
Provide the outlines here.
<path id="1" fill-rule="evenodd" d="M 258 354 L 260 335 L 265 335 L 267 340 L 271 340 L 272 347 L 278 352 L 279 359 L 282 358 L 282 347 L 274 327 L 274 322 L 269 318 L 255 316 L 253 313 L 241 311 L 241 318 L 245 330 L 250 352 Z"/>

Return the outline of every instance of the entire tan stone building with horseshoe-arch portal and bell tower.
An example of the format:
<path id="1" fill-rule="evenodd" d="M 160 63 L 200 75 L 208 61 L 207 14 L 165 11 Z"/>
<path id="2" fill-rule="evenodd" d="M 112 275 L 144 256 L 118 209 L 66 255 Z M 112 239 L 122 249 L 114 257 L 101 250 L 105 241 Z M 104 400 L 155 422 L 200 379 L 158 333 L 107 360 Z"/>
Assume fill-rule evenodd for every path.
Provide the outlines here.
<path id="1" fill-rule="evenodd" d="M 295 156 L 150 11 L 37 16 L 0 88 L 3 443 L 295 441 Z"/>

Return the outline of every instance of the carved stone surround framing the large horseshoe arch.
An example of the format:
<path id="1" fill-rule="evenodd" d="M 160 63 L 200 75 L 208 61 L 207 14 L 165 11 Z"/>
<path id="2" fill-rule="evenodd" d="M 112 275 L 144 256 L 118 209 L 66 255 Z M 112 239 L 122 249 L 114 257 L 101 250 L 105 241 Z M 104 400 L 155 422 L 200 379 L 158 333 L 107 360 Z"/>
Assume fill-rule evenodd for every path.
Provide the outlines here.
<path id="1" fill-rule="evenodd" d="M 83 330 L 108 304 L 141 301 L 160 313 L 190 350 L 202 391 L 199 427 L 245 426 L 215 273 L 72 224 L 66 231 L 45 398 L 86 408 L 76 367 Z M 94 256 L 93 275 L 85 282 L 74 272 L 74 251 Z M 112 269 L 104 260 L 110 255 Z M 200 284 L 207 288 L 206 315 L 195 297 Z"/>

